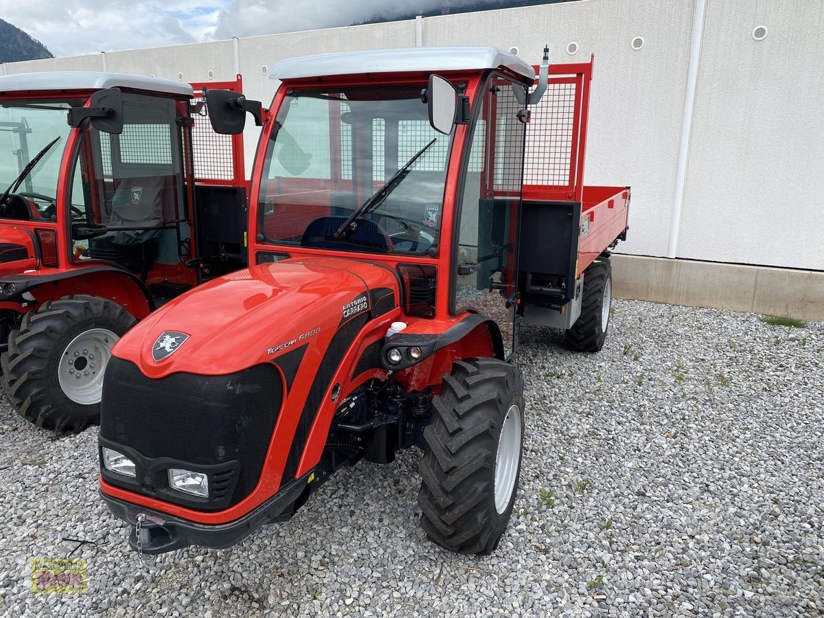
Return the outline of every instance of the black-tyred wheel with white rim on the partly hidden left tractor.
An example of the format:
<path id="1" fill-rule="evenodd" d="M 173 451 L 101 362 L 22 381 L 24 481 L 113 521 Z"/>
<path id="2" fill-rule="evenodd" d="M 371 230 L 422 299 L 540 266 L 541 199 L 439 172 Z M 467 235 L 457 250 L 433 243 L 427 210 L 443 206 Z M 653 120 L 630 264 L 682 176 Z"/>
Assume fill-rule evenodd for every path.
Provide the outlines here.
<path id="1" fill-rule="evenodd" d="M 105 298 L 44 302 L 9 334 L 0 357 L 3 390 L 17 412 L 40 428 L 79 432 L 99 424 L 111 347 L 135 322 Z"/>

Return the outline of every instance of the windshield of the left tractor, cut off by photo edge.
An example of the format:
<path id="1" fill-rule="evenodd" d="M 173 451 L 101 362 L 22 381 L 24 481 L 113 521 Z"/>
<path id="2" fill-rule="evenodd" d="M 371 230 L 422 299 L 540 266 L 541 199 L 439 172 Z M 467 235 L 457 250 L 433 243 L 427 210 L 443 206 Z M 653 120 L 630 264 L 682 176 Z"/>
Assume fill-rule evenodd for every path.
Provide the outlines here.
<path id="1" fill-rule="evenodd" d="M 54 213 L 60 160 L 72 129 L 66 121 L 70 107 L 66 101 L 0 104 L 0 193 L 13 189 L 0 208 L 0 218 L 50 218 Z M 40 160 L 31 166 L 41 151 Z"/>

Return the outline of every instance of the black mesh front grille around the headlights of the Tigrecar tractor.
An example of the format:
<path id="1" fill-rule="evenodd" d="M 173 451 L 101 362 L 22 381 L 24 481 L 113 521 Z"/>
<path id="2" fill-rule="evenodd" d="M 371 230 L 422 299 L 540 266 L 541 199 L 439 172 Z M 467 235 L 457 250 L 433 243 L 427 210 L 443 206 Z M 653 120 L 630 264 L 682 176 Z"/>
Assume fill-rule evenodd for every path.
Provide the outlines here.
<path id="1" fill-rule="evenodd" d="M 283 379 L 271 364 L 223 376 L 180 372 L 155 380 L 134 363 L 112 357 L 103 385 L 101 444 L 129 447 L 138 454 L 138 470 L 156 470 L 158 459 L 170 458 L 214 472 L 205 503 L 158 487 L 162 474 L 154 476 L 157 483 L 139 487 L 107 471 L 104 476 L 126 489 L 201 510 L 231 507 L 260 480 L 282 403 Z"/>

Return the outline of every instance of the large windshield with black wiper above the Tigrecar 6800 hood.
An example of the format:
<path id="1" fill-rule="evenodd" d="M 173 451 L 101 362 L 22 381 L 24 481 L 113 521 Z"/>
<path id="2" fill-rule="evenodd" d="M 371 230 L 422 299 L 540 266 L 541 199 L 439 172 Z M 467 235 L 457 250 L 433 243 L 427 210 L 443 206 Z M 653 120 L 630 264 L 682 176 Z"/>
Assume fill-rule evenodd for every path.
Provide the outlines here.
<path id="1" fill-rule="evenodd" d="M 286 96 L 260 186 L 265 239 L 437 255 L 451 136 L 430 126 L 420 97 L 424 86 Z M 339 233 L 368 201 L 355 225 Z"/>

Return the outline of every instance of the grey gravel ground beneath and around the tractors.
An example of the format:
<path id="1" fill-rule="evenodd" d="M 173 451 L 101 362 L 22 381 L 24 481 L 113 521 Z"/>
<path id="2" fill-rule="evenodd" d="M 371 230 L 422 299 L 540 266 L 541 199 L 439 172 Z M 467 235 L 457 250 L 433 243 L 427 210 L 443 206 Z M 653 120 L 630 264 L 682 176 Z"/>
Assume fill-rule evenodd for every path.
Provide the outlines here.
<path id="1" fill-rule="evenodd" d="M 417 452 L 339 472 L 292 521 L 152 567 L 96 494 L 96 430 L 0 411 L 0 616 L 817 616 L 824 611 L 824 324 L 616 302 L 597 355 L 522 333 L 528 434 L 499 550 L 418 526 Z M 86 594 L 32 558 L 96 542 Z"/>

